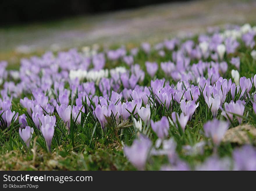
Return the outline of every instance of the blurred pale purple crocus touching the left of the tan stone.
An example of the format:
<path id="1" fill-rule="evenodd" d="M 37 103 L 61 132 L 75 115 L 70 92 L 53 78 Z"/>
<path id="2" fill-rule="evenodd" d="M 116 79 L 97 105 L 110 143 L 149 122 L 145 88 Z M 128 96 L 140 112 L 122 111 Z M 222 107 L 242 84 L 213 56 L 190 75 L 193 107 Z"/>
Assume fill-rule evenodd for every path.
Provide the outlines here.
<path id="1" fill-rule="evenodd" d="M 205 136 L 210 137 L 215 145 L 219 145 L 223 139 L 227 129 L 228 123 L 214 119 L 204 124 Z"/>

